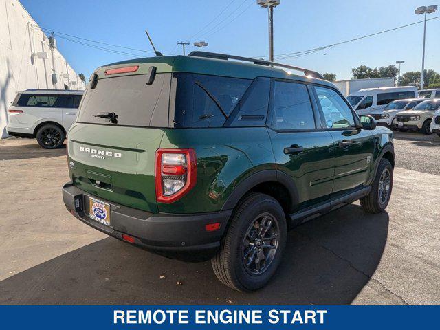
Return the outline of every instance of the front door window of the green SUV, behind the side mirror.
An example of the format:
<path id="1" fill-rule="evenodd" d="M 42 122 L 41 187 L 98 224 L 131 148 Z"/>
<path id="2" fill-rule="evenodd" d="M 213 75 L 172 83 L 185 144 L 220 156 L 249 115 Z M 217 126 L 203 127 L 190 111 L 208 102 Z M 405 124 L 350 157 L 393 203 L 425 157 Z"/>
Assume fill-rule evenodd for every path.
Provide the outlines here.
<path id="1" fill-rule="evenodd" d="M 315 87 L 315 90 L 327 128 L 342 129 L 355 126 L 351 109 L 336 91 L 325 87 Z"/>

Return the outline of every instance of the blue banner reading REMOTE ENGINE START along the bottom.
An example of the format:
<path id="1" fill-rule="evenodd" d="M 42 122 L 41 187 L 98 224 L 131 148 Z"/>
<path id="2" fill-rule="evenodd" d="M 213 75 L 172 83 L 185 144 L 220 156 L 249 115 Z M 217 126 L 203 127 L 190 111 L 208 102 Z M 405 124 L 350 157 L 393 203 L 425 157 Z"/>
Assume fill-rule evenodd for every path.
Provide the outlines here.
<path id="1" fill-rule="evenodd" d="M 2 329 L 439 329 L 439 306 L 1 306 Z"/>

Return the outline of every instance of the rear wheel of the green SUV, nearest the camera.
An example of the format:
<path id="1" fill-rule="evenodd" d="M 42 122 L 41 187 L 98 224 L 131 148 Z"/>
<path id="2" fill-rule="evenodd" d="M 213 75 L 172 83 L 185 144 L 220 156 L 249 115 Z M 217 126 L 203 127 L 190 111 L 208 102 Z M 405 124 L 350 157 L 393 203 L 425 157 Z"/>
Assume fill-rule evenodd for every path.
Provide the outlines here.
<path id="1" fill-rule="evenodd" d="M 281 262 L 287 228 L 276 199 L 252 193 L 237 206 L 221 248 L 211 260 L 217 278 L 238 291 L 263 287 Z"/>

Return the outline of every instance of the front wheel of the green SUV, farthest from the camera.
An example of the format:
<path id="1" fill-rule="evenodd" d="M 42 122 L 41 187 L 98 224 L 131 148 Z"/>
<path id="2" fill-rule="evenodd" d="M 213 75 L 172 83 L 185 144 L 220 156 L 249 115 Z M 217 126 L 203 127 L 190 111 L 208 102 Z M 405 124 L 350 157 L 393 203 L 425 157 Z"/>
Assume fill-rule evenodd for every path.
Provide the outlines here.
<path id="1" fill-rule="evenodd" d="M 365 212 L 380 213 L 386 209 L 393 190 L 393 166 L 388 159 L 380 159 L 369 195 L 360 199 Z"/>

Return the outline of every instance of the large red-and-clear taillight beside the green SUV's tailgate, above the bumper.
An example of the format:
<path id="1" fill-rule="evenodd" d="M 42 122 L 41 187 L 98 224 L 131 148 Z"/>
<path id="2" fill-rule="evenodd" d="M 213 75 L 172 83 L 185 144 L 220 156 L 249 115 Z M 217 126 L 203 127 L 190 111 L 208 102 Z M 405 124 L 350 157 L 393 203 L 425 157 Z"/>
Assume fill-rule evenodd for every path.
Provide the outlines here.
<path id="1" fill-rule="evenodd" d="M 173 203 L 195 186 L 197 159 L 194 149 L 158 149 L 156 151 L 156 198 Z"/>

